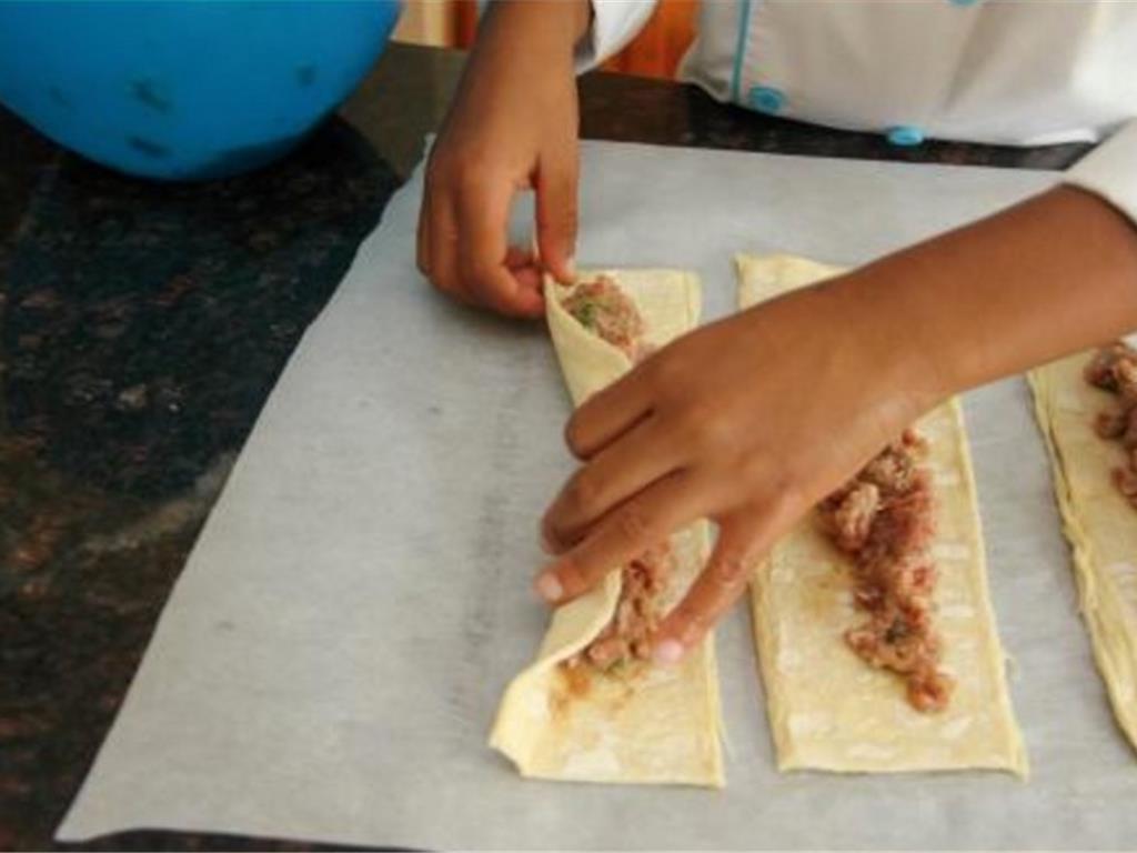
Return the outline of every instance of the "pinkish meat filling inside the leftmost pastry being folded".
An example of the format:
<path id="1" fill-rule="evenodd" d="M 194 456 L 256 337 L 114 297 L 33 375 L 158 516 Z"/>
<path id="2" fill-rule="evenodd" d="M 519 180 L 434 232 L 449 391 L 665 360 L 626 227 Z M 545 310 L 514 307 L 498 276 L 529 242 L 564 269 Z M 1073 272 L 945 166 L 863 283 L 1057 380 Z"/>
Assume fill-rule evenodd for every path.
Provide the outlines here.
<path id="1" fill-rule="evenodd" d="M 636 303 L 608 276 L 578 284 L 562 304 L 584 329 L 617 347 L 632 362 L 648 354 L 642 340 L 644 318 Z M 620 601 L 612 621 L 566 662 L 570 669 L 587 662 L 607 671 L 650 656 L 652 633 L 662 616 L 659 601 L 671 574 L 667 545 L 648 549 L 624 565 L 621 574 Z"/>

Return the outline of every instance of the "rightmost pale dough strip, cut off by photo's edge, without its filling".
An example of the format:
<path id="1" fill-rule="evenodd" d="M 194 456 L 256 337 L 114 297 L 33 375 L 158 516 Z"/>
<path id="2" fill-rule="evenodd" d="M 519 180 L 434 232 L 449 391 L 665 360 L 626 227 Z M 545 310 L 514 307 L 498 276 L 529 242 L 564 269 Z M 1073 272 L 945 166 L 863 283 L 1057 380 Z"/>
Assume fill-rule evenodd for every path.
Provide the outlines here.
<path id="1" fill-rule="evenodd" d="M 1118 724 L 1137 748 L 1137 510 L 1111 479 L 1124 452 L 1094 432 L 1094 417 L 1113 400 L 1082 380 L 1092 355 L 1053 362 L 1028 380 L 1094 657 Z"/>

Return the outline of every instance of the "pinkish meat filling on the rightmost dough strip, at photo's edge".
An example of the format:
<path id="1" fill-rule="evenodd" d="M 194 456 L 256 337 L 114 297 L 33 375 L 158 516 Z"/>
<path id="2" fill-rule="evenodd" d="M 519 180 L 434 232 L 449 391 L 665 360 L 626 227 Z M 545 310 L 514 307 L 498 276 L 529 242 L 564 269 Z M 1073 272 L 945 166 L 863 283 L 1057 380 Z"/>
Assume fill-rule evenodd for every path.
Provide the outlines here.
<path id="1" fill-rule="evenodd" d="M 1137 349 L 1122 341 L 1102 347 L 1086 365 L 1085 376 L 1114 396 L 1115 405 L 1097 413 L 1094 431 L 1124 449 L 1126 462 L 1113 469 L 1113 483 L 1137 507 Z"/>

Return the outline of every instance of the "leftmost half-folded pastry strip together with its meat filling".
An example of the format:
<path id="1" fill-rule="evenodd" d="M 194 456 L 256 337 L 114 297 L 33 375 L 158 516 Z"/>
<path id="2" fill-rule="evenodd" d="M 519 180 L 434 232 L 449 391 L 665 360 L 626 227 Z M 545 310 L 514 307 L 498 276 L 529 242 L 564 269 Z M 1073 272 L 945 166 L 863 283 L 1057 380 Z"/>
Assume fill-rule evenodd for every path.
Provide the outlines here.
<path id="1" fill-rule="evenodd" d="M 692 329 L 699 288 L 688 273 L 620 270 L 572 287 L 548 282 L 545 303 L 579 404 Z M 678 666 L 650 660 L 657 626 L 708 553 L 707 523 L 696 521 L 609 564 L 559 606 L 537 660 L 501 699 L 491 745 L 524 776 L 721 786 L 713 639 Z"/>

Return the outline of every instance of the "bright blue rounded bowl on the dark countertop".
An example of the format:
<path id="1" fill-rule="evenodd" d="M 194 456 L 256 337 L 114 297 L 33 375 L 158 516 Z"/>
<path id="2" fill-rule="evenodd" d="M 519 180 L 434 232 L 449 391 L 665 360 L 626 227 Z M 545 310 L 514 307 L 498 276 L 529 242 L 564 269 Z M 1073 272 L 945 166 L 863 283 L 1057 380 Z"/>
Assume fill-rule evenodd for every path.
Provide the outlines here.
<path id="1" fill-rule="evenodd" d="M 221 177 L 298 144 L 382 53 L 398 0 L 0 0 L 0 101 L 133 175 Z"/>

